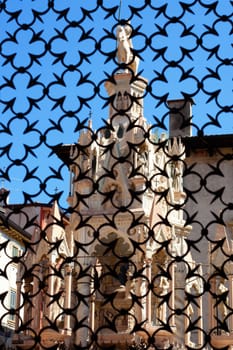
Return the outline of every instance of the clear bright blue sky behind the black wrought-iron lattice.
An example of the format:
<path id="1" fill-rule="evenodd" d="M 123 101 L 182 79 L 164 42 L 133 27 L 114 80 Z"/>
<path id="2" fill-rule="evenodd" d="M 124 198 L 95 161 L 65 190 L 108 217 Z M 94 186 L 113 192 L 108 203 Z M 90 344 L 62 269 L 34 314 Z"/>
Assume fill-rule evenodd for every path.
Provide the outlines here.
<path id="1" fill-rule="evenodd" d="M 50 178 L 46 190 L 50 194 L 55 188 L 63 190 L 62 203 L 65 203 L 67 171 L 56 156 L 49 157 L 49 147 L 77 141 L 76 118 L 87 118 L 90 110 L 95 129 L 102 126 L 102 118 L 107 118 L 108 110 L 102 109 L 101 97 L 106 97 L 106 93 L 100 82 L 106 79 L 105 73 L 111 74 L 116 67 L 113 59 L 106 61 L 109 52 L 116 48 L 114 36 L 107 33 L 115 34 L 119 8 L 114 18 L 114 15 L 108 17 L 109 12 L 104 9 L 94 11 L 93 0 L 55 0 L 54 11 L 47 11 L 47 0 L 1 3 L 6 10 L 0 14 L 0 154 L 5 173 L 0 181 L 11 190 L 11 202 L 21 202 L 22 191 L 34 200 L 47 202 L 50 197 L 45 192 L 37 195 L 40 183 L 60 169 L 64 181 Z M 103 7 L 112 8 L 113 13 L 119 6 L 115 0 L 102 3 Z M 131 25 L 137 29 L 133 46 L 141 56 L 139 71 L 151 84 L 151 93 L 144 102 L 145 117 L 150 123 L 154 123 L 156 116 L 164 117 L 167 125 L 168 110 L 165 104 L 160 104 L 161 98 L 177 99 L 185 92 L 194 96 L 193 122 L 198 128 L 211 118 L 219 123 L 220 127 L 206 125 L 205 134 L 233 133 L 233 8 L 230 0 L 224 0 L 211 10 L 213 3 L 151 0 L 151 6 L 143 9 L 144 0 L 121 1 L 121 19 L 131 16 L 132 7 L 136 12 L 131 18 Z M 33 11 L 39 15 L 32 24 Z M 83 11 L 88 15 L 77 25 Z M 10 13 L 17 16 L 12 19 Z M 176 21 L 172 20 L 174 17 Z M 76 25 L 72 25 L 74 21 Z M 150 37 L 150 42 L 146 37 Z M 83 56 L 87 59 L 82 59 Z M 178 64 L 169 67 L 166 61 Z M 76 65 L 76 69 L 64 68 L 70 65 Z M 97 85 L 100 94 L 95 92 Z M 86 103 L 82 106 L 83 100 Z M 44 136 L 46 142 L 41 142 Z M 10 146 L 6 155 L 3 149 L 7 145 Z M 23 181 L 27 171 L 35 178 L 26 177 Z"/>

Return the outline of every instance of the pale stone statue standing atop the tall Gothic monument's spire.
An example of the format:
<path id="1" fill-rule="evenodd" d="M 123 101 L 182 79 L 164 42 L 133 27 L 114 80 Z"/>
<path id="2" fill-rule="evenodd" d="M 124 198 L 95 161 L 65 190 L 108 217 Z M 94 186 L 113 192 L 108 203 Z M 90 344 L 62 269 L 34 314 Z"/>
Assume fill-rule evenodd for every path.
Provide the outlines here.
<path id="1" fill-rule="evenodd" d="M 120 25 L 117 27 L 117 60 L 119 63 L 128 64 L 130 70 L 132 70 L 134 74 L 137 74 L 139 58 L 136 56 L 134 57 L 132 52 L 131 33 L 132 28 L 130 25 Z"/>

